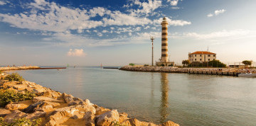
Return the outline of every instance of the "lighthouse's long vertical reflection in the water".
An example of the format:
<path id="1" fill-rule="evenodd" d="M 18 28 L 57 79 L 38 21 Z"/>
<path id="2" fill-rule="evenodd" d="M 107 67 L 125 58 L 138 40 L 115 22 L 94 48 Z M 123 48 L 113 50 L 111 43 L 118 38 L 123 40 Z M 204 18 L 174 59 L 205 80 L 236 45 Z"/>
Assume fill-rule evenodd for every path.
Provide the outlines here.
<path id="1" fill-rule="evenodd" d="M 169 116 L 168 112 L 168 91 L 169 91 L 168 74 L 161 73 L 161 105 L 160 105 L 160 122 L 165 122 Z"/>

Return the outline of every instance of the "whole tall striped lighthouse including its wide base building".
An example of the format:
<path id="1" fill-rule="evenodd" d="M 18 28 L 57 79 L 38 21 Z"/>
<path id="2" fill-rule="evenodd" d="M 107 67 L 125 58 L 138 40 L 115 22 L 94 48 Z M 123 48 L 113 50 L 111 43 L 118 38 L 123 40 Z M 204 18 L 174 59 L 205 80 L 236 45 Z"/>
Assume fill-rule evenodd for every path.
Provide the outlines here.
<path id="1" fill-rule="evenodd" d="M 168 22 L 165 17 L 161 22 L 161 27 L 161 59 L 156 62 L 156 66 L 173 67 L 174 62 L 170 62 L 168 59 Z"/>

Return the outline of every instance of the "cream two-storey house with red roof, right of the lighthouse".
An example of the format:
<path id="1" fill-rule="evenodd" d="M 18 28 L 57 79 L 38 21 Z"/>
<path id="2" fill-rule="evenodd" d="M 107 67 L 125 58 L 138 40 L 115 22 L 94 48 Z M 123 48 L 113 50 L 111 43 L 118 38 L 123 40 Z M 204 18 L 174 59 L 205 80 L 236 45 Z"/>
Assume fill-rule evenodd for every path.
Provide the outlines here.
<path id="1" fill-rule="evenodd" d="M 210 62 L 216 60 L 216 54 L 208 51 L 196 51 L 188 53 L 188 60 L 190 62 Z"/>

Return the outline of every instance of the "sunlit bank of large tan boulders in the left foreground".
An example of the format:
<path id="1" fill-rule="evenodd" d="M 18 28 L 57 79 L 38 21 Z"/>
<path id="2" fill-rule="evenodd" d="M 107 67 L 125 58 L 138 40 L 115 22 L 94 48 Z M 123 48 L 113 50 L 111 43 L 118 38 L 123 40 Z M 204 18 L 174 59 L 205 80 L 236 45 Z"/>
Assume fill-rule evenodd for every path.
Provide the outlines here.
<path id="1" fill-rule="evenodd" d="M 1 74 L 0 79 L 7 76 Z M 5 122 L 14 122 L 18 118 L 29 120 L 41 118 L 41 125 L 132 125 L 132 126 L 156 126 L 151 122 L 142 122 L 136 118 L 129 118 L 127 113 L 119 113 L 90 103 L 88 99 L 82 100 L 70 94 L 53 91 L 30 81 L 0 80 L 1 90 L 12 90 L 16 93 L 29 91 L 36 96 L 28 101 L 8 103 L 0 108 L 0 117 Z M 168 121 L 157 126 L 178 126 Z"/>

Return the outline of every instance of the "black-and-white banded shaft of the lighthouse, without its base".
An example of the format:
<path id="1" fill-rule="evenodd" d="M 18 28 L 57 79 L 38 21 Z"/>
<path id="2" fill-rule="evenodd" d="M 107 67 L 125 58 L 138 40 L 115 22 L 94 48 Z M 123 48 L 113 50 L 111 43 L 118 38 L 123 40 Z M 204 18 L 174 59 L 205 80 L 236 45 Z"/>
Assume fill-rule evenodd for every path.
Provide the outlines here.
<path id="1" fill-rule="evenodd" d="M 162 35 L 161 35 L 161 62 L 168 62 L 168 22 L 166 18 L 163 18 L 162 25 Z"/>

